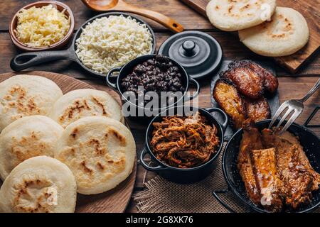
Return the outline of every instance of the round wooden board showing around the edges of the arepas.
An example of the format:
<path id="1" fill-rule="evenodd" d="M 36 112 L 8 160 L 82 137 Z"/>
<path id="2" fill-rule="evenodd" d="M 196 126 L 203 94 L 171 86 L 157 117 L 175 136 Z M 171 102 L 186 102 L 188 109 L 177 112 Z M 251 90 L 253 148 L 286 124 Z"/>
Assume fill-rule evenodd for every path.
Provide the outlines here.
<path id="1" fill-rule="evenodd" d="M 63 74 L 53 72 L 31 71 L 31 72 L 9 72 L 0 74 L 0 82 L 12 77 L 16 74 L 32 74 L 51 79 L 58 84 L 63 94 L 73 91 L 75 89 L 95 89 L 89 84 L 82 82 L 73 77 L 68 77 Z M 43 89 L 46 89 L 45 87 Z M 97 195 L 82 195 L 78 194 L 77 206 L 75 212 L 78 213 L 122 213 L 127 208 L 132 191 L 134 189 L 134 182 L 136 179 L 137 162 L 134 165 L 132 174 L 116 188 Z M 0 181 L 0 184 L 2 182 Z"/>

